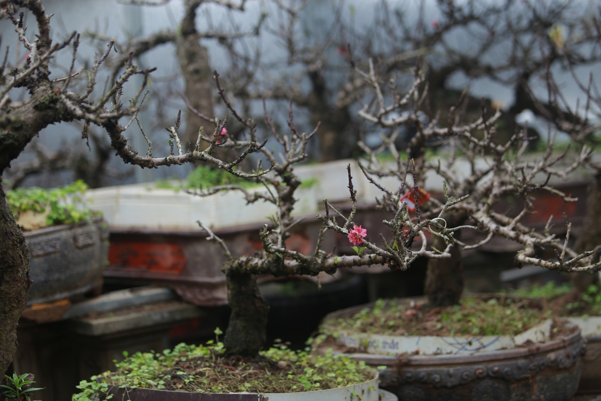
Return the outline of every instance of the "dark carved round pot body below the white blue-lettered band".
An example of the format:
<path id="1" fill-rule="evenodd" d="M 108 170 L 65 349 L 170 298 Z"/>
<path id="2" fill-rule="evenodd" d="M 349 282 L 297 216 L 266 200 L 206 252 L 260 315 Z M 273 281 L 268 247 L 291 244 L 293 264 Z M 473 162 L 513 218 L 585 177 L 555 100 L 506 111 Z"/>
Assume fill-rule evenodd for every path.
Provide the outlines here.
<path id="1" fill-rule="evenodd" d="M 345 317 L 359 310 L 336 314 Z M 586 350 L 578 331 L 527 347 L 473 354 L 347 355 L 371 366 L 386 366 L 380 372 L 380 387 L 403 401 L 560 401 L 576 393 Z"/>

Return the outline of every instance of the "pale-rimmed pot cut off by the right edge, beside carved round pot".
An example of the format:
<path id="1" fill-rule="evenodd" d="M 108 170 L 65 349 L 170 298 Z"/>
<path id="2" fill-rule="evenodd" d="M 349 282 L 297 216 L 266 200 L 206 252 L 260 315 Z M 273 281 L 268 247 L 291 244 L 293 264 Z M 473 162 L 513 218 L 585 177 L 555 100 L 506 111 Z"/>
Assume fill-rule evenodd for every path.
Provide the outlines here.
<path id="1" fill-rule="evenodd" d="M 601 394 L 601 316 L 569 317 L 587 340 L 578 394 Z"/>

